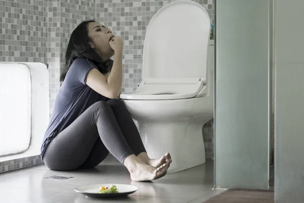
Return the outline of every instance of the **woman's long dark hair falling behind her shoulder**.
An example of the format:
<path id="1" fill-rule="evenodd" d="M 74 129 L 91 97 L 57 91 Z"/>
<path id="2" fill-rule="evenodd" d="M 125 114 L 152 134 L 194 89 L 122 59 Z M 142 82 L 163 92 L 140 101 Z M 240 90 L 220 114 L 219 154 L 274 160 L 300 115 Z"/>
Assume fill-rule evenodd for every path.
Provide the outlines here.
<path id="1" fill-rule="evenodd" d="M 88 24 L 96 22 L 95 20 L 87 20 L 80 23 L 72 32 L 65 52 L 65 66 L 60 76 L 60 82 L 63 82 L 69 67 L 77 57 L 87 57 L 99 69 L 102 74 L 110 71 L 109 59 L 103 61 L 101 57 L 89 45 L 91 39 L 89 37 Z"/>

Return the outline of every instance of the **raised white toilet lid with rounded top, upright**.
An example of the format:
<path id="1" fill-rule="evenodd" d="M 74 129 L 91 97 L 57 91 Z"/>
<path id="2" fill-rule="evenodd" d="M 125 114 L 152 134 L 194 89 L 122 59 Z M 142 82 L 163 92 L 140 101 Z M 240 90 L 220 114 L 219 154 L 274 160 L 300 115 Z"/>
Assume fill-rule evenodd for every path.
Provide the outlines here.
<path id="1" fill-rule="evenodd" d="M 150 20 L 143 45 L 142 78 L 207 78 L 210 19 L 196 2 L 176 1 Z"/>

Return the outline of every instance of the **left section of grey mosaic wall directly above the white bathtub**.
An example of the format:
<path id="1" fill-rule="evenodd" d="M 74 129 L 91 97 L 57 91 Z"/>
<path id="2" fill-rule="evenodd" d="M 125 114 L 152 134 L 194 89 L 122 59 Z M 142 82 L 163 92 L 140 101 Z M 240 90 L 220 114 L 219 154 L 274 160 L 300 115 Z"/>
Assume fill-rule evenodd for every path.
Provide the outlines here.
<path id="1" fill-rule="evenodd" d="M 46 62 L 47 0 L 0 1 L 0 61 Z"/>

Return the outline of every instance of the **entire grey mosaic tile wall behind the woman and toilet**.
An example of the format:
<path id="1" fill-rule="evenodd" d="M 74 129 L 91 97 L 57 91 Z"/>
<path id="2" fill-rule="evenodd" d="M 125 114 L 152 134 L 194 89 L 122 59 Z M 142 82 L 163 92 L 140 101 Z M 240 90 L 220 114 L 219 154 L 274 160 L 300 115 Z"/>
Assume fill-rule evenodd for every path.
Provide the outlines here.
<path id="1" fill-rule="evenodd" d="M 212 23 L 213 1 L 195 1 L 208 11 Z M 0 0 L 0 61 L 47 62 L 50 73 L 50 113 L 52 113 L 60 87 L 60 70 L 64 67 L 64 54 L 70 33 L 81 21 L 94 18 L 124 39 L 122 90 L 131 92 L 141 81 L 141 54 L 146 26 L 151 17 L 170 2 Z M 213 157 L 212 131 L 213 122 L 210 121 L 203 128 L 207 158 Z"/>

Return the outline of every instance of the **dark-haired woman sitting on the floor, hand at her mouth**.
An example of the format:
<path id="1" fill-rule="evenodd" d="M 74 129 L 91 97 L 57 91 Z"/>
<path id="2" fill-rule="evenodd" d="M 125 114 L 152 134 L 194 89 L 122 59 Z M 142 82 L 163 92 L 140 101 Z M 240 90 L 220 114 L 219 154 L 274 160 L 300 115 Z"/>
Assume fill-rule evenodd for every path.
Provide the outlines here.
<path id="1" fill-rule="evenodd" d="M 123 40 L 93 20 L 72 32 L 62 85 L 41 148 L 51 170 L 93 168 L 110 152 L 127 167 L 133 181 L 155 180 L 167 173 L 170 154 L 148 157 L 129 112 L 117 99 L 122 55 Z"/>

